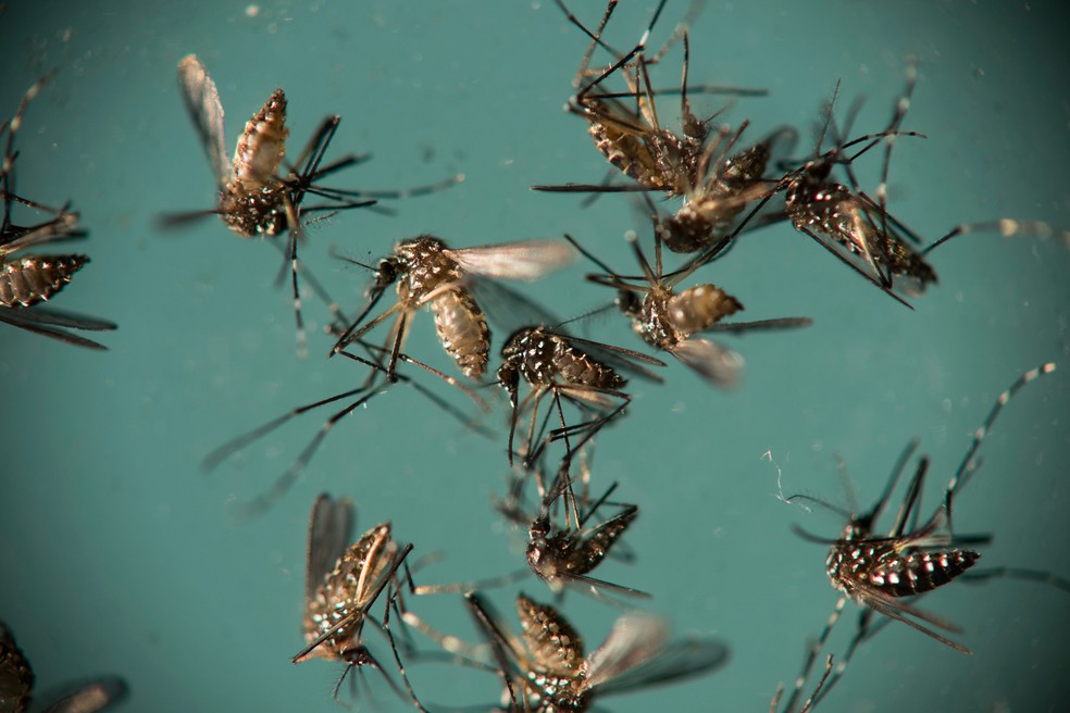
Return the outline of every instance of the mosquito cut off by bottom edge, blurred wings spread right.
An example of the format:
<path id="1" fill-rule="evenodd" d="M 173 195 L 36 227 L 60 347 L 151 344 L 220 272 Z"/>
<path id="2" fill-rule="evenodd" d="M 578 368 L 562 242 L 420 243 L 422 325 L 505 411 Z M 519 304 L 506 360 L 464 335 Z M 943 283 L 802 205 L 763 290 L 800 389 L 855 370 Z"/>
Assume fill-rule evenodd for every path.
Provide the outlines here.
<path id="1" fill-rule="evenodd" d="M 548 604 L 523 593 L 517 598 L 518 637 L 484 597 L 464 598 L 493 662 L 482 661 L 475 646 L 443 637 L 412 617 L 406 621 L 452 653 L 468 651 L 472 665 L 496 668 L 505 684 L 498 711 L 581 713 L 608 696 L 713 673 L 729 658 L 727 647 L 711 637 L 669 641 L 665 622 L 637 611 L 620 616 L 601 647 L 585 654 L 575 627 Z"/>

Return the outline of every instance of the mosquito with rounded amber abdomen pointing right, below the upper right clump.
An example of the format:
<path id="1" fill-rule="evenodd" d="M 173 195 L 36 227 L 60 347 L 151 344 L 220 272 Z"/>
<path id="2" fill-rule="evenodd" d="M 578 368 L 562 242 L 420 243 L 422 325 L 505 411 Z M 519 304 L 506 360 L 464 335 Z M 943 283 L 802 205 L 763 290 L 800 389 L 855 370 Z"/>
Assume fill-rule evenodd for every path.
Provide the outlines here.
<path id="1" fill-rule="evenodd" d="M 743 368 L 743 356 L 735 351 L 709 341 L 696 334 L 789 329 L 811 324 L 808 317 L 781 317 L 759 322 L 722 322 L 743 309 L 743 304 L 726 291 L 712 284 L 698 285 L 675 291 L 675 287 L 698 267 L 717 257 L 708 252 L 683 268 L 667 275 L 661 259 L 661 234 L 655 217 L 655 265 L 651 266 L 634 235 L 629 243 L 643 271 L 642 280 L 621 277 L 606 263 L 580 246 L 571 236 L 565 238 L 588 260 L 604 271 L 602 275 L 588 275 L 587 279 L 614 288 L 617 305 L 632 321 L 634 332 L 648 345 L 675 356 L 685 366 L 714 386 L 732 386 Z M 730 239 L 720 242 L 721 250 Z M 636 284 L 638 282 L 639 284 Z"/>

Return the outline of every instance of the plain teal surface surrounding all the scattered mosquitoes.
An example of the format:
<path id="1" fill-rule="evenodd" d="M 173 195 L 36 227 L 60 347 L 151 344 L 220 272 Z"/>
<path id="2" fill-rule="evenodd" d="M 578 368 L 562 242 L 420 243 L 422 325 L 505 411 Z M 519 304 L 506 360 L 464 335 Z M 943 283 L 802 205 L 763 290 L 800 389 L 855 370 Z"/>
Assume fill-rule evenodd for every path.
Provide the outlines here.
<path id="1" fill-rule="evenodd" d="M 572 4 L 592 24 L 602 10 L 600 1 Z M 621 4 L 611 36 L 623 47 L 652 3 Z M 465 433 L 410 389 L 341 422 L 289 496 L 253 524 L 236 522 L 231 505 L 266 488 L 326 414 L 288 424 L 210 475 L 200 471 L 228 438 L 363 374 L 323 359 L 329 340 L 314 329 L 312 355 L 296 358 L 289 298 L 273 287 L 275 250 L 212 220 L 177 234 L 155 227 L 160 213 L 214 199 L 175 85 L 183 55 L 197 53 L 219 85 L 228 147 L 282 86 L 295 150 L 338 113 L 335 155 L 374 153 L 338 185 L 403 187 L 466 174 L 459 187 L 394 203 L 396 216 L 354 211 L 309 230 L 307 264 L 350 310 L 368 275 L 332 259 L 329 248 L 371 261 L 422 232 L 471 246 L 568 230 L 623 270 L 624 232 L 648 238 L 624 198 L 582 210 L 575 197 L 528 190 L 605 172 L 583 122 L 561 111 L 585 42 L 552 3 L 264 2 L 256 17 L 246 7 L 37 1 L 9 3 L 0 15 L 0 114 L 59 67 L 20 136 L 20 189 L 46 203 L 72 199 L 91 230 L 78 249 L 92 263 L 55 303 L 121 325 L 102 335 L 107 353 L 0 329 L 0 616 L 41 686 L 121 673 L 133 689 L 122 710 L 336 710 L 340 666 L 289 663 L 302 643 L 308 512 L 322 490 L 357 500 L 360 531 L 393 520 L 418 555 L 444 550 L 424 581 L 522 566 L 523 533 L 489 508 L 508 476 L 503 431 L 493 441 Z M 654 43 L 685 11 L 670 3 Z M 749 118 L 752 137 L 798 126 L 799 150 L 809 151 L 810 127 L 837 79 L 842 110 L 856 96 L 868 99 L 857 130 L 879 130 L 903 89 L 904 58 L 915 53 L 920 80 L 905 127 L 929 138 L 896 145 L 895 214 L 931 237 L 1005 215 L 1070 226 L 1066 27 L 1052 1 L 711 0 L 692 30 L 692 77 L 768 88 L 768 98 L 739 101 L 726 121 Z M 675 84 L 679 70 L 677 50 L 658 84 Z M 716 98 L 697 103 L 706 113 L 720 108 Z M 673 100 L 659 105 L 671 122 Z M 863 185 L 875 186 L 879 165 L 863 164 Z M 931 512 L 999 391 L 1049 360 L 1066 363 L 1003 415 L 983 470 L 957 501 L 956 524 L 995 533 L 981 565 L 1070 575 L 1070 254 L 1056 240 L 976 234 L 932 261 L 941 285 L 916 312 L 786 226 L 696 275 L 738 297 L 743 316 L 808 315 L 814 326 L 725 338 L 747 358 L 732 392 L 676 363 L 663 387 L 635 383 L 630 416 L 599 438 L 596 483 L 619 480 L 618 496 L 642 508 L 627 536 L 638 562 L 609 563 L 599 575 L 654 592 L 650 609 L 676 630 L 713 634 L 732 648 L 713 677 L 607 699 L 606 708 L 768 710 L 837 598 L 824 548 L 791 526 L 834 537 L 839 517 L 784 504 L 779 488 L 845 504 L 838 453 L 866 506 L 917 436 L 933 456 Z M 585 311 L 609 297 L 582 283 L 587 270 L 578 264 L 531 293 L 564 315 Z M 306 314 L 322 325 L 314 300 Z M 589 329 L 638 346 L 613 315 Z M 407 350 L 456 373 L 426 314 Z M 497 406 L 487 425 L 500 430 L 503 402 Z M 534 578 L 522 588 L 549 600 Z M 490 596 L 515 626 L 514 592 Z M 412 605 L 471 636 L 457 598 Z M 894 624 L 859 651 L 828 710 L 1065 710 L 1065 593 L 997 580 L 947 587 L 923 605 L 959 624 L 956 638 L 974 654 Z M 588 649 L 615 615 L 576 596 L 563 611 Z M 834 638 L 836 653 L 854 611 Z M 441 665 L 412 675 L 428 704 L 496 700 L 497 681 L 485 675 Z M 382 709 L 403 709 L 382 686 L 375 691 Z"/>

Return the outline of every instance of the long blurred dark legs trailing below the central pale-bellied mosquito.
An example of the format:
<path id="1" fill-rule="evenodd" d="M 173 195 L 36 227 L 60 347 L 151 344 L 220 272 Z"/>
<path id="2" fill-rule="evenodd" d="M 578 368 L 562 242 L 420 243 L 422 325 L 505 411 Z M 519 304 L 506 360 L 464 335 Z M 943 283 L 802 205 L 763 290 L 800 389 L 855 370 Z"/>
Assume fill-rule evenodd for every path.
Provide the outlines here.
<path id="1" fill-rule="evenodd" d="M 353 389 L 349 389 L 347 391 L 343 391 L 340 393 L 336 393 L 325 399 L 321 399 L 313 403 L 309 403 L 293 409 L 287 413 L 284 413 L 283 415 L 276 418 L 272 418 L 268 423 L 258 426 L 257 428 L 253 428 L 252 430 L 242 434 L 241 436 L 238 436 L 237 438 L 231 439 L 223 446 L 216 448 L 214 451 L 209 453 L 202 461 L 201 467 L 203 467 L 206 471 L 213 471 L 224 460 L 239 453 L 246 446 L 249 446 L 250 443 L 260 440 L 261 438 L 265 437 L 268 434 L 281 427 L 283 424 L 289 422 L 290 420 L 300 416 L 304 413 L 308 413 L 310 411 L 320 409 L 322 406 L 329 405 L 332 403 L 337 403 L 337 402 L 346 403 L 346 405 L 341 410 L 332 414 L 323 423 L 323 425 L 320 427 L 320 430 L 316 431 L 315 436 L 312 437 L 312 440 L 310 440 L 309 443 L 304 447 L 304 449 L 300 452 L 294 464 L 290 465 L 290 467 L 288 467 L 281 476 L 278 476 L 278 478 L 275 480 L 275 483 L 272 485 L 272 487 L 269 490 L 260 493 L 252 500 L 246 501 L 239 505 L 238 515 L 242 520 L 256 518 L 268 512 L 272 508 L 272 505 L 274 505 L 275 502 L 279 498 L 282 498 L 287 490 L 289 490 L 289 488 L 294 485 L 294 483 L 297 481 L 297 478 L 304 471 L 304 467 L 312 460 L 312 456 L 315 454 L 316 450 L 320 448 L 320 445 L 323 442 L 323 440 L 327 437 L 327 434 L 329 434 L 331 430 L 334 428 L 335 424 L 337 424 L 344 417 L 357 411 L 358 408 L 366 404 L 376 396 L 385 393 L 395 384 L 395 381 L 390 381 L 385 377 L 386 367 L 382 365 L 385 359 L 389 355 L 389 352 L 387 352 L 386 350 L 380 347 L 376 347 L 374 345 L 368 345 L 362 341 L 354 341 L 352 346 L 360 347 L 363 350 L 365 350 L 366 352 L 365 356 L 361 356 L 359 354 L 354 354 L 346 350 L 339 353 L 343 356 L 351 361 L 354 361 L 359 364 L 362 364 L 372 371 L 372 377 L 366 379 L 361 386 L 356 387 Z M 423 368 L 434 374 L 438 378 L 443 379 L 446 384 L 461 390 L 466 396 L 469 396 L 480 406 L 480 409 L 483 412 L 488 411 L 488 405 L 483 401 L 483 399 L 481 399 L 472 389 L 468 388 L 465 385 L 461 384 L 452 376 L 443 374 L 441 372 L 426 364 L 423 364 L 405 353 L 398 353 L 397 359 L 398 361 L 405 362 L 407 364 L 412 364 L 413 366 L 418 366 L 420 368 Z M 396 381 L 400 381 L 401 384 L 408 384 L 412 386 L 414 389 L 416 389 L 416 391 L 419 391 L 422 396 L 428 399 L 433 404 L 435 404 L 437 408 L 441 409 L 448 415 L 460 422 L 465 428 L 474 430 L 480 435 L 484 435 L 484 436 L 488 435 L 482 428 L 482 426 L 480 426 L 478 422 L 475 418 L 473 418 L 468 414 L 464 414 L 461 410 L 457 409 L 451 403 L 449 403 L 448 401 L 446 401 L 440 396 L 438 396 L 427 387 L 423 386 L 419 381 L 414 380 L 409 375 L 402 373 L 396 373 L 395 378 Z M 346 402 L 349 399 L 351 400 Z"/>

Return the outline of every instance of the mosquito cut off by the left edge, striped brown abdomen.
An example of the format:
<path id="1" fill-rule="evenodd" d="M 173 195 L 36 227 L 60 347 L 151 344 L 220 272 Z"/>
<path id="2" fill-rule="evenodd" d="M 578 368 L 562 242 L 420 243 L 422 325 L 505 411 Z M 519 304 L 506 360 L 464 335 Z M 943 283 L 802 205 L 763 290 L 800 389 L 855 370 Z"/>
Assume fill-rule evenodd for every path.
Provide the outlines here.
<path id="1" fill-rule="evenodd" d="M 8 135 L 3 164 L 0 166 L 0 197 L 3 199 L 3 221 L 0 223 L 0 322 L 76 347 L 103 350 L 107 349 L 103 345 L 71 334 L 66 329 L 103 332 L 115 329 L 115 323 L 74 312 L 34 307 L 48 301 L 63 289 L 74 274 L 89 262 L 89 258 L 84 254 L 36 253 L 13 257 L 33 246 L 84 236 L 78 228 L 78 214 L 67 207 L 53 209 L 15 193 L 15 136 L 22 127 L 29 103 L 50 78 L 51 74 L 48 74 L 35 82 L 23 96 L 15 115 L 0 124 L 0 137 L 4 133 Z M 16 203 L 48 213 L 52 217 L 34 225 L 17 225 L 12 217 Z"/>

